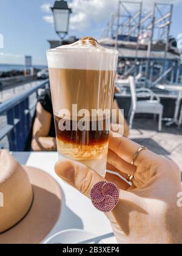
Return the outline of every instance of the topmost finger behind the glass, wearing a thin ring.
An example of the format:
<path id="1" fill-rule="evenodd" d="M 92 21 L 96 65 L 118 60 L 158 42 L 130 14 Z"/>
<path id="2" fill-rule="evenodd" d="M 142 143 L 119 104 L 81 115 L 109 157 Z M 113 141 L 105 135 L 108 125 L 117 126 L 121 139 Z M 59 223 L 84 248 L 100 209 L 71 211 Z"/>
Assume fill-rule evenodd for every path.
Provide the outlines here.
<path id="1" fill-rule="evenodd" d="M 133 157 L 140 147 L 140 144 L 129 140 L 129 138 L 122 137 L 118 134 L 115 136 L 115 133 L 110 132 L 109 149 L 115 152 L 115 154 L 117 154 L 127 163 L 132 163 Z M 156 157 L 154 153 L 150 152 L 149 150 L 143 150 L 136 158 L 134 165 L 138 167 L 145 160 L 151 160 L 153 157 Z"/>

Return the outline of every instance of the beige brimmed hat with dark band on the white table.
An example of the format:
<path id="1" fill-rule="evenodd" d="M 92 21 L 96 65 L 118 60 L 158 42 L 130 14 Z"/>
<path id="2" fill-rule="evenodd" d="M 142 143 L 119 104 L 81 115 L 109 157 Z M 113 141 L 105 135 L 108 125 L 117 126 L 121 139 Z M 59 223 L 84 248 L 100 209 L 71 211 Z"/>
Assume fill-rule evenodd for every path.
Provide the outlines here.
<path id="1" fill-rule="evenodd" d="M 22 167 L 0 151 L 0 244 L 38 244 L 61 209 L 58 183 L 40 169 Z"/>

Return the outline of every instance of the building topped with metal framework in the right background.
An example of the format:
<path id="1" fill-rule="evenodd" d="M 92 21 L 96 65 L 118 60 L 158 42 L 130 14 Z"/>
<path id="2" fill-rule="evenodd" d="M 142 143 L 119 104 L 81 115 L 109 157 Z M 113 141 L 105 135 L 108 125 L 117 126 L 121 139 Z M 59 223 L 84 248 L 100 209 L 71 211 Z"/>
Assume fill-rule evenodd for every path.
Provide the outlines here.
<path id="1" fill-rule="evenodd" d="M 117 49 L 118 74 L 125 78 L 142 73 L 144 87 L 158 82 L 182 83 L 180 51 L 170 37 L 173 4 L 118 1 L 99 43 Z"/>

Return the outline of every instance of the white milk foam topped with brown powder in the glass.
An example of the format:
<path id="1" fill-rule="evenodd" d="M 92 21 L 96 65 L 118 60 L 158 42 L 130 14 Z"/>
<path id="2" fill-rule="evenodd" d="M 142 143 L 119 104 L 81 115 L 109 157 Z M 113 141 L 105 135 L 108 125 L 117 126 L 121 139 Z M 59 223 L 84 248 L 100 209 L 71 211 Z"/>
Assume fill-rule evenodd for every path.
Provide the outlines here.
<path id="1" fill-rule="evenodd" d="M 47 51 L 49 68 L 116 71 L 118 51 L 91 37 Z"/>

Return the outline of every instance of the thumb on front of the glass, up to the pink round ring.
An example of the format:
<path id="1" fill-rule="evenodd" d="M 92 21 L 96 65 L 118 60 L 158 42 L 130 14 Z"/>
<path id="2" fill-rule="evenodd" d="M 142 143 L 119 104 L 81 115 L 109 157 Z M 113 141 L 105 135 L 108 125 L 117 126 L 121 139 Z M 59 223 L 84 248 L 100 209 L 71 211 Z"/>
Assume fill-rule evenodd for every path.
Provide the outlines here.
<path id="1" fill-rule="evenodd" d="M 87 197 L 90 197 L 90 190 L 97 182 L 105 181 L 89 167 L 71 160 L 57 162 L 55 172 L 62 180 Z"/>

